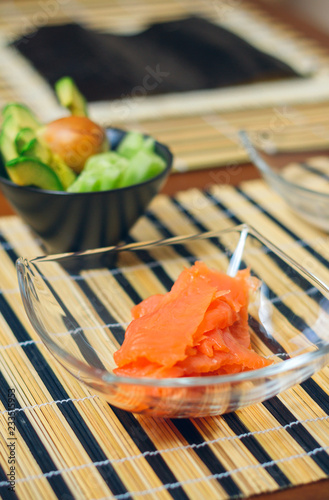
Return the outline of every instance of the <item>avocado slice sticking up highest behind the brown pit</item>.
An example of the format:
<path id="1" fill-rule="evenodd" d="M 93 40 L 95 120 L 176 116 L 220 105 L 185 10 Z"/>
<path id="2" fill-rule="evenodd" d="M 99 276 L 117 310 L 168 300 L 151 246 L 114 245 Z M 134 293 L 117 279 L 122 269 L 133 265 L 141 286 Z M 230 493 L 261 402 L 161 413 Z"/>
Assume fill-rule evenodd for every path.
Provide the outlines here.
<path id="1" fill-rule="evenodd" d="M 87 101 L 69 76 L 64 76 L 55 83 L 57 98 L 72 115 L 88 116 Z"/>

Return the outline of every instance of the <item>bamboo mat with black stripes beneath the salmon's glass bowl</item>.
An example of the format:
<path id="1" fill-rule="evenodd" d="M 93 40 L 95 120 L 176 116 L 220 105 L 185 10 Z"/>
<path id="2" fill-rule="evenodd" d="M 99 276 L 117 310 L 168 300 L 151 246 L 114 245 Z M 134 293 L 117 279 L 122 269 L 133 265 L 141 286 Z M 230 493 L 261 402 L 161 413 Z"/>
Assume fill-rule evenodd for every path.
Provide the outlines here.
<path id="1" fill-rule="evenodd" d="M 263 181 L 159 195 L 132 231 L 158 239 L 251 223 L 325 282 L 329 236 Z M 24 500 L 229 499 L 329 476 L 329 366 L 271 400 L 219 417 L 165 420 L 111 407 L 55 361 L 24 312 L 18 256 L 40 255 L 16 216 L 0 218 L 0 495 Z M 8 398 L 15 390 L 15 492 Z"/>

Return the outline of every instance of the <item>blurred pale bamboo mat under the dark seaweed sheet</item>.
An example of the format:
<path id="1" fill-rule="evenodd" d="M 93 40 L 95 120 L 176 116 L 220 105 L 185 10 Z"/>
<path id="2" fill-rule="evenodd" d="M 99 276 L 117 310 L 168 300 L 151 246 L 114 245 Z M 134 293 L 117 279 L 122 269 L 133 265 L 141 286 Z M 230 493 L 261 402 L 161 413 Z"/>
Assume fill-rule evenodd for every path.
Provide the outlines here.
<path id="1" fill-rule="evenodd" d="M 178 171 L 245 162 L 247 156 L 237 138 L 241 129 L 287 129 L 289 141 L 296 144 L 299 135 L 294 125 L 302 124 L 309 148 L 328 147 L 328 48 L 241 0 L 4 0 L 0 3 L 0 107 L 21 101 L 45 121 L 61 113 L 52 89 L 17 51 L 8 48 L 10 40 L 41 25 L 72 20 L 95 30 L 127 33 L 190 14 L 218 22 L 298 71 L 313 74 L 293 83 L 181 93 L 120 105 L 93 103 L 90 112 L 95 120 L 140 129 L 169 143 Z"/>

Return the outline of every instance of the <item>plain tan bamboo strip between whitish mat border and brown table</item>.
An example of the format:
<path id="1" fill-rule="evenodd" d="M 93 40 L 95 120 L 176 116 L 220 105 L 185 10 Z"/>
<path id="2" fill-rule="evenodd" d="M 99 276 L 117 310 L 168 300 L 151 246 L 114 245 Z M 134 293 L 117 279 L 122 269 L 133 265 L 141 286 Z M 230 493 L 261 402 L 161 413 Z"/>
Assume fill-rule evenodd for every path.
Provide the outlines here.
<path id="1" fill-rule="evenodd" d="M 127 121 L 125 128 L 140 130 L 169 144 L 176 172 L 236 166 L 249 162 L 238 137 L 240 130 L 252 137 L 277 138 L 277 147 L 282 151 L 327 150 L 329 102 Z"/>

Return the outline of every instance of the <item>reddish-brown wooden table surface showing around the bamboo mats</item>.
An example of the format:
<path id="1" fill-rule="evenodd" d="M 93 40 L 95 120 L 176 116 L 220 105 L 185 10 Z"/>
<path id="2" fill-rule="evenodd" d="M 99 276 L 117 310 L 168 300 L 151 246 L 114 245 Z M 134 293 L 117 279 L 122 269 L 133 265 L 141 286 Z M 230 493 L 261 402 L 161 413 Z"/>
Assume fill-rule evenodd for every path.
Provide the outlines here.
<path id="1" fill-rule="evenodd" d="M 255 4 L 265 6 L 266 9 L 275 15 L 279 20 L 285 23 L 289 22 L 294 28 L 297 28 L 307 36 L 316 39 L 320 43 L 329 46 L 329 34 L 318 31 L 314 26 L 309 25 L 306 21 L 298 18 L 296 14 L 285 7 L 269 5 L 266 0 L 251 0 Z M 234 175 L 233 175 L 234 173 Z M 177 191 L 189 189 L 191 187 L 207 188 L 214 183 L 226 183 L 236 185 L 242 181 L 255 179 L 258 177 L 256 168 L 251 164 L 243 164 L 238 170 L 234 167 L 234 172 L 230 168 L 211 168 L 202 171 L 191 171 L 188 173 L 173 174 L 167 184 L 163 188 L 163 193 L 172 195 Z M 0 216 L 13 215 L 14 211 L 6 201 L 2 193 L 0 193 Z M 325 500 L 329 499 L 329 479 L 322 480 L 316 483 L 307 484 L 305 486 L 285 489 L 271 494 L 262 494 L 252 497 L 258 500 Z"/>

